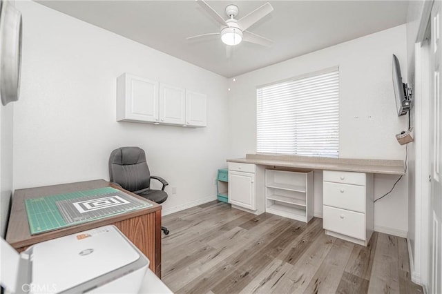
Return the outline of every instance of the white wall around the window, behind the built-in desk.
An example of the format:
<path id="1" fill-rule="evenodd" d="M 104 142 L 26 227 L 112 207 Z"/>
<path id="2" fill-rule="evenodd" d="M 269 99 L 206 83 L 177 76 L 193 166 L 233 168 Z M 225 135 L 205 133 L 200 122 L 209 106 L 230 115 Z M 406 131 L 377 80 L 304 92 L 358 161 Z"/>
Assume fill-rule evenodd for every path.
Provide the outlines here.
<path id="1" fill-rule="evenodd" d="M 230 82 L 229 157 L 256 152 L 256 87 L 308 72 L 339 66 L 340 157 L 405 159 L 405 146 L 394 135 L 407 128 L 397 117 L 392 86 L 392 54 L 407 77 L 405 25 L 341 43 L 308 55 L 236 77 Z M 315 215 L 322 215 L 322 173 L 316 171 Z M 375 175 L 375 197 L 386 193 L 398 176 Z M 406 236 L 407 177 L 391 195 L 376 202 L 376 231 Z"/>

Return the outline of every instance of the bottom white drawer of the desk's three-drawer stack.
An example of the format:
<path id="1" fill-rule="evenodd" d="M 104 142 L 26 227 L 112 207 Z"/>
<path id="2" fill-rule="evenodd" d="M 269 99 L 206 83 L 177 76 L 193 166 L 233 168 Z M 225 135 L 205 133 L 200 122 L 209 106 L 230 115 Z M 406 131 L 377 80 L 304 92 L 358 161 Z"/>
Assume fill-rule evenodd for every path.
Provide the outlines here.
<path id="1" fill-rule="evenodd" d="M 365 214 L 323 206 L 323 217 L 325 230 L 365 240 Z"/>

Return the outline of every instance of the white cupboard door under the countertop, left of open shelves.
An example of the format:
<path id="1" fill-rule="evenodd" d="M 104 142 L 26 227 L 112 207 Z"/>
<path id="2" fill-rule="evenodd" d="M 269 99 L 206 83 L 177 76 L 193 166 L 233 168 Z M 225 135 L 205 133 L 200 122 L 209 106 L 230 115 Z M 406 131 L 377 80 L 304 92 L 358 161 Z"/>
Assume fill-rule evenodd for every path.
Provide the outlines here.
<path id="1" fill-rule="evenodd" d="M 229 170 L 229 203 L 256 210 L 255 175 Z"/>

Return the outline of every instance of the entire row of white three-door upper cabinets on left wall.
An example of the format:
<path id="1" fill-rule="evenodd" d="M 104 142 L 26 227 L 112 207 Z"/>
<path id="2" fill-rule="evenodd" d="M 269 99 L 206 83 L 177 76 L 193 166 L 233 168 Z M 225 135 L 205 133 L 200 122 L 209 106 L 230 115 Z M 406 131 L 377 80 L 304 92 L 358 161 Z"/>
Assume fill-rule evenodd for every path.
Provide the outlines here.
<path id="1" fill-rule="evenodd" d="M 117 79 L 117 121 L 206 126 L 206 95 L 124 73 Z"/>

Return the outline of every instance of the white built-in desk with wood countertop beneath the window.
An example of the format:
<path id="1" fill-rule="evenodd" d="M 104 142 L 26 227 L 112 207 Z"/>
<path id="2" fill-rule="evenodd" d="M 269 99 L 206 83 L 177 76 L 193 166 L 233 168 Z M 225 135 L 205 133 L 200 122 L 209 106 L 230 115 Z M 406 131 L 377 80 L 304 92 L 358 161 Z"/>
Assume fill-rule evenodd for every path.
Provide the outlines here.
<path id="1" fill-rule="evenodd" d="M 309 184 L 312 179 L 309 179 L 307 173 L 311 170 L 323 170 L 325 233 L 364 246 L 367 246 L 374 228 L 373 174 L 403 175 L 405 173 L 402 160 L 248 154 L 245 158 L 227 159 L 227 161 L 229 162 L 229 203 L 233 207 L 259 215 L 267 210 L 270 213 L 278 211 L 266 209 L 271 204 L 273 207 L 280 208 L 280 215 L 305 219 L 307 222 L 310 218 L 309 207 L 313 201 L 309 199 L 313 197 L 312 184 Z M 290 192 L 291 194 L 267 197 L 269 194 L 267 191 L 269 185 L 266 184 L 267 169 L 286 170 L 287 173 L 290 171 L 296 171 L 298 174 L 305 173 L 307 182 L 303 186 L 310 188 L 303 188 L 300 192 L 307 198 L 296 198 L 298 191 L 293 188 L 290 190 L 295 192 Z M 281 173 L 280 182 L 277 183 L 279 190 L 284 190 L 284 187 L 290 184 L 287 183 L 287 179 L 291 178 L 296 182 L 294 175 Z M 272 181 L 278 182 L 279 180 L 272 178 Z M 290 216 L 291 211 L 300 212 L 302 218 L 300 215 Z"/>

